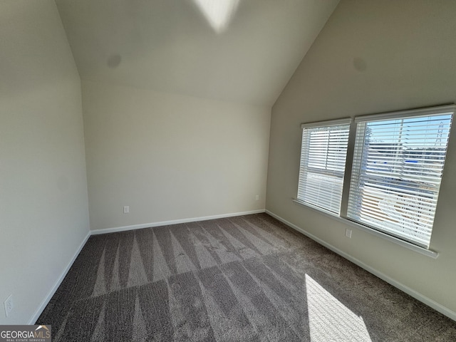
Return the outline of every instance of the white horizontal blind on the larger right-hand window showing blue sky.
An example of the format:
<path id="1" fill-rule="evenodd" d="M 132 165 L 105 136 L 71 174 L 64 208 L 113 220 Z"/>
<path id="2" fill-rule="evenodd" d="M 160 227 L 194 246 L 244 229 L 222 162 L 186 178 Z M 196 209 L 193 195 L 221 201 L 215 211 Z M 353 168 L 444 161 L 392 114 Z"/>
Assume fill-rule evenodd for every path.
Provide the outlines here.
<path id="1" fill-rule="evenodd" d="M 356 118 L 350 219 L 429 247 L 453 112 Z"/>

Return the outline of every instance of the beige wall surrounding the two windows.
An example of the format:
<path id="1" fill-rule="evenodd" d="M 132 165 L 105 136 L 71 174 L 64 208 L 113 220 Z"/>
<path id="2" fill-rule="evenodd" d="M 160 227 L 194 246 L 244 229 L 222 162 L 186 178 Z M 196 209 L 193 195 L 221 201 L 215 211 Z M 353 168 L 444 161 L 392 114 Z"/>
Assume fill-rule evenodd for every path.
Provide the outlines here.
<path id="1" fill-rule="evenodd" d="M 456 101 L 455 1 L 341 1 L 271 113 L 266 209 L 456 311 L 456 130 L 430 248 L 437 259 L 291 201 L 300 124 Z"/>

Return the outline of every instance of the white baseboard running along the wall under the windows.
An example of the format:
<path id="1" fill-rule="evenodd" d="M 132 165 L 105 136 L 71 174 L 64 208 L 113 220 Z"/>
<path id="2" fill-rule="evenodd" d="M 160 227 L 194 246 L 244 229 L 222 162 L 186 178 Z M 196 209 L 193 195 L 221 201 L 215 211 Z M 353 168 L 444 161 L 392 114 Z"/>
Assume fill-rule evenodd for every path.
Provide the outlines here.
<path id="1" fill-rule="evenodd" d="M 412 296 L 413 298 L 418 299 L 418 301 L 421 301 L 422 303 L 426 304 L 427 306 L 430 306 L 432 309 L 435 309 L 435 311 L 439 311 L 440 314 L 444 314 L 445 316 L 451 318 L 453 321 L 456 321 L 456 312 L 455 311 L 452 311 L 452 310 L 448 309 L 446 306 L 443 306 L 442 304 L 439 304 L 436 301 L 433 301 L 432 299 L 427 298 L 426 296 L 423 296 L 423 294 L 420 294 L 418 291 L 415 291 L 414 289 L 411 289 L 410 287 L 405 286 L 404 284 L 401 284 L 399 281 L 396 281 L 395 279 L 390 278 L 390 276 L 387 276 L 386 274 L 383 274 L 382 272 L 377 271 L 376 269 L 373 269 L 371 266 L 364 264 L 363 261 L 360 261 L 360 260 L 352 257 L 350 254 L 346 254 L 346 252 L 342 252 L 340 249 L 333 247 L 331 244 L 328 244 L 327 242 L 324 242 L 322 239 L 316 237 L 314 234 L 306 232 L 301 227 L 296 226 L 296 224 L 292 224 L 291 222 L 288 222 L 286 219 L 279 217 L 279 215 L 276 215 L 267 209 L 265 210 L 265 212 L 266 212 L 266 214 L 269 214 L 272 217 L 278 219 L 280 222 L 283 222 L 287 226 L 306 235 L 306 237 L 310 237 L 314 241 L 318 242 L 318 244 L 321 244 L 324 247 L 331 249 L 331 251 L 339 254 L 341 257 L 344 257 L 345 259 L 350 260 L 351 262 L 353 262 L 353 264 L 356 264 L 356 265 L 360 266 L 361 268 L 366 269 L 366 271 L 370 272 L 371 274 L 378 276 L 378 278 L 383 279 L 388 284 L 391 284 L 395 288 L 400 289 L 400 291 L 403 291 L 406 294 L 409 294 L 410 296 Z"/>

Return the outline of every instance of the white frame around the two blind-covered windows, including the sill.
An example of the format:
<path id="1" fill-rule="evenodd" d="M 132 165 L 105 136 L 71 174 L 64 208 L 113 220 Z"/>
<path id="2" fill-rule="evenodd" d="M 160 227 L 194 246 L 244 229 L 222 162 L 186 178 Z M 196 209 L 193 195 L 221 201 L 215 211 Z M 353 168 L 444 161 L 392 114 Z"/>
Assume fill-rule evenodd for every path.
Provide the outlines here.
<path id="1" fill-rule="evenodd" d="M 388 119 L 393 120 L 393 119 L 398 119 L 398 118 L 410 118 L 410 117 L 420 117 L 420 116 L 426 116 L 426 115 L 439 115 L 439 114 L 452 114 L 452 120 L 454 120 L 455 114 L 456 114 L 456 105 L 455 104 L 440 105 L 440 106 L 434 106 L 434 107 L 429 107 L 429 108 L 419 108 L 419 109 L 413 109 L 413 110 L 400 110 L 400 111 L 394 111 L 394 112 L 388 112 L 388 113 L 355 116 L 354 120 L 351 120 L 350 130 L 349 130 L 349 135 L 348 135 L 346 169 L 345 169 L 345 175 L 344 175 L 344 181 L 343 181 L 340 214 L 337 215 L 337 214 L 333 214 L 332 212 L 327 212 L 326 210 L 323 210 L 320 207 L 311 206 L 309 204 L 302 202 L 299 199 L 293 199 L 294 202 L 296 202 L 297 204 L 304 204 L 304 206 L 309 207 L 310 209 L 316 210 L 316 212 L 321 212 L 321 213 L 325 214 L 326 216 L 336 219 L 340 222 L 343 222 L 344 224 L 348 224 L 351 227 L 356 227 L 363 231 L 374 234 L 375 236 L 382 237 L 383 239 L 387 239 L 391 242 L 395 242 L 396 244 L 400 244 L 401 246 L 411 249 L 415 252 L 425 254 L 428 257 L 437 258 L 438 253 L 432 250 L 432 233 L 434 231 L 435 224 L 432 224 L 430 243 L 429 243 L 428 247 L 426 248 L 426 247 L 420 246 L 418 244 L 415 244 L 413 242 L 409 242 L 400 237 L 396 237 L 396 236 L 388 234 L 386 232 L 382 232 L 382 231 L 376 229 L 375 227 L 370 227 L 368 224 L 365 224 L 363 222 L 358 222 L 354 219 L 351 219 L 350 217 L 348 217 L 347 210 L 348 210 L 348 199 L 349 199 L 349 195 L 350 195 L 349 192 L 350 192 L 351 182 L 352 182 L 353 155 L 355 152 L 356 129 L 357 129 L 358 123 L 368 122 L 370 120 L 375 120 L 375 121 L 376 120 L 388 120 Z M 347 119 L 342 119 L 342 120 L 347 120 Z M 331 121 L 338 121 L 338 120 L 331 120 Z M 330 123 L 331 121 L 326 121 L 326 122 Z M 301 128 L 307 127 L 307 126 L 310 127 L 310 125 L 323 125 L 324 123 L 325 123 L 325 121 L 321 121 L 318 123 L 302 124 Z M 447 145 L 446 145 L 446 150 L 445 150 L 445 160 L 443 162 L 442 177 L 440 178 L 440 185 L 441 185 L 441 182 L 443 179 L 443 175 L 445 174 L 445 161 L 447 159 L 448 150 L 450 148 L 450 140 L 451 140 L 450 137 L 452 135 L 452 130 L 453 130 L 453 128 L 452 128 L 452 121 L 451 121 L 450 129 L 448 130 L 448 138 L 447 138 L 448 140 L 447 140 Z M 301 144 L 302 144 L 302 141 L 301 141 Z M 301 153 L 302 153 L 302 151 L 301 151 Z M 300 175 L 301 175 L 301 173 L 300 173 Z M 437 197 L 437 207 L 435 209 L 435 212 L 437 212 L 437 208 L 438 208 L 438 197 Z M 434 219 L 435 219 L 435 212 L 434 212 Z"/>

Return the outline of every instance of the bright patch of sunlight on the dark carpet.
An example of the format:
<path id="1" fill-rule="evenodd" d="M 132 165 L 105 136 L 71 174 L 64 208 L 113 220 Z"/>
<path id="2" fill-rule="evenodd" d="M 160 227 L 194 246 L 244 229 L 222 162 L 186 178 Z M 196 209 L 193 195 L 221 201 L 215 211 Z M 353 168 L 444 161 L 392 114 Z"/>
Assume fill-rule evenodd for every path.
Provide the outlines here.
<path id="1" fill-rule="evenodd" d="M 312 342 L 372 342 L 366 324 L 328 291 L 306 274 L 309 328 Z"/>

